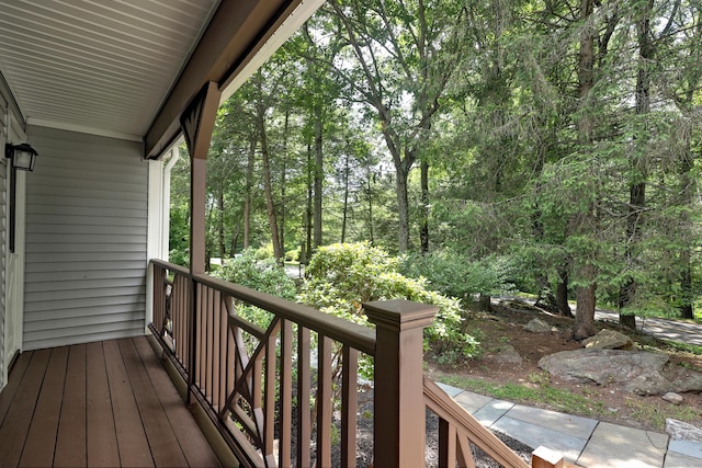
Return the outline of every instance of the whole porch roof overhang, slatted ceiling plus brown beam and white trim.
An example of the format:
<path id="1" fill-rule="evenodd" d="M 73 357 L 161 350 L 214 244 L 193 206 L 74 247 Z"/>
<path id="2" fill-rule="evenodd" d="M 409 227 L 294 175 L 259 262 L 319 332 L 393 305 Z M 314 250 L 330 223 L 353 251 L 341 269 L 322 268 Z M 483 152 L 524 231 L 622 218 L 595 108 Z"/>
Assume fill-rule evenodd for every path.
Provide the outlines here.
<path id="1" fill-rule="evenodd" d="M 156 159 L 210 82 L 223 100 L 322 0 L 0 0 L 0 91 L 30 125 L 144 144 Z"/>

